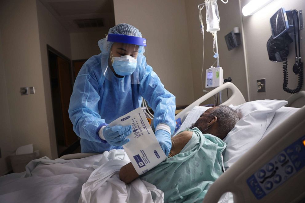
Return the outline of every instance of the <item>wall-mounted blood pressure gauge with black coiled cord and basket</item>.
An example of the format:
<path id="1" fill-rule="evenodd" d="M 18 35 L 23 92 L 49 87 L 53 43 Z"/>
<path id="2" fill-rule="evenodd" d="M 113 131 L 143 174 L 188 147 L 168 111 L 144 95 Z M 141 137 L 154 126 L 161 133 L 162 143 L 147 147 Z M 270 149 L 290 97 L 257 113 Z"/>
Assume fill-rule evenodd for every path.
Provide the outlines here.
<path id="1" fill-rule="evenodd" d="M 300 30 L 303 29 L 302 10 L 287 10 L 280 8 L 270 18 L 272 36 L 267 41 L 269 59 L 273 62 L 283 62 L 283 90 L 288 93 L 297 93 L 303 86 L 303 62 L 301 61 Z M 292 36 L 292 37 L 291 37 Z M 292 39 L 294 38 L 294 40 Z M 293 72 L 298 75 L 298 86 L 291 90 L 288 86 L 287 56 L 288 45 L 295 42 L 295 64 Z"/>

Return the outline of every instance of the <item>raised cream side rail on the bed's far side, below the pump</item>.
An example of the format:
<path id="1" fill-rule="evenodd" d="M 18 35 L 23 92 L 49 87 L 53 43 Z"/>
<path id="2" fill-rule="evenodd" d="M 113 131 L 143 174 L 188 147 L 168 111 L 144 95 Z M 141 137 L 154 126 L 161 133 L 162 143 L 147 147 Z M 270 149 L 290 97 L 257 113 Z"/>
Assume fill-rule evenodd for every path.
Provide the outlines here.
<path id="1" fill-rule="evenodd" d="M 214 90 L 208 92 L 207 94 L 203 95 L 196 101 L 194 101 L 192 104 L 190 104 L 188 107 L 183 109 L 180 113 L 178 113 L 175 116 L 175 119 L 181 118 L 181 122 L 184 121 L 185 117 L 188 115 L 188 113 L 195 107 L 199 106 L 202 102 L 206 101 L 208 98 L 214 96 L 215 94 L 219 93 L 222 90 L 225 90 L 226 88 L 232 90 L 232 96 L 222 103 L 221 105 L 240 105 L 246 102 L 243 94 L 241 94 L 240 90 L 232 83 L 232 82 L 226 82 L 223 85 L 215 88 Z"/>

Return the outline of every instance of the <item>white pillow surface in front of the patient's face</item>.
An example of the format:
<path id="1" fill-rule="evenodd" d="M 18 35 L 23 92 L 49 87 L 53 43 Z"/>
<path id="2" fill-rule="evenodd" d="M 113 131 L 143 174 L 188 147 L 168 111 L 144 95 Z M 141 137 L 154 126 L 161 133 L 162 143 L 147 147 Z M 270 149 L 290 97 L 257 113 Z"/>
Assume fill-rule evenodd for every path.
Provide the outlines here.
<path id="1" fill-rule="evenodd" d="M 188 128 L 191 126 L 191 124 L 195 123 L 200 115 L 205 112 L 207 109 L 212 108 L 212 107 L 207 107 L 207 106 L 195 106 L 187 115 L 179 129 L 176 131 L 174 136 L 178 134 L 178 132 L 185 130 L 185 128 Z"/>

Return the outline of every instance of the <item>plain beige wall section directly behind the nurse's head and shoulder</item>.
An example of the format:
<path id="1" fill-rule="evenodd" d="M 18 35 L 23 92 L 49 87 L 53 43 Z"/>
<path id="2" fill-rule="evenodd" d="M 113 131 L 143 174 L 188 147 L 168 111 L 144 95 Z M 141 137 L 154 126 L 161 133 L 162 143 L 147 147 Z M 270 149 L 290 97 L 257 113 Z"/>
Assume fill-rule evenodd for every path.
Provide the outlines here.
<path id="1" fill-rule="evenodd" d="M 131 3 L 132 2 L 132 3 Z M 176 104 L 194 101 L 185 3 L 179 1 L 114 0 L 115 23 L 137 27 L 147 39 L 147 63 Z"/>

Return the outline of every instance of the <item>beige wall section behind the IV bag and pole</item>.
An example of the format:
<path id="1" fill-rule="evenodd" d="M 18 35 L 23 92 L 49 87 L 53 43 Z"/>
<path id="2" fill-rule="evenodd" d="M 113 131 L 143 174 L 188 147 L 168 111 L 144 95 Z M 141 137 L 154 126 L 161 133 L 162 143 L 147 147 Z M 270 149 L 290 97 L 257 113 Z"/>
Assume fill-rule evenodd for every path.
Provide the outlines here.
<path id="1" fill-rule="evenodd" d="M 189 44 L 191 50 L 192 75 L 195 99 L 200 98 L 205 93 L 201 87 L 202 70 L 202 34 L 200 33 L 199 10 L 197 6 L 204 0 L 185 0 Z M 217 2 L 220 13 L 220 31 L 217 32 L 218 49 L 220 55 L 220 66 L 224 70 L 224 78 L 231 77 L 232 82 L 240 89 L 246 101 L 248 101 L 247 78 L 245 69 L 243 44 L 228 51 L 224 36 L 233 30 L 234 27 L 241 29 L 241 13 L 239 10 L 239 0 L 229 0 L 227 4 L 221 1 Z M 202 10 L 204 24 L 204 68 L 203 68 L 203 87 L 210 91 L 211 88 L 205 88 L 205 70 L 209 68 L 216 59 L 213 58 L 213 36 L 206 32 L 206 9 Z M 242 42 L 243 43 L 243 42 Z M 216 67 L 216 63 L 214 66 Z M 230 96 L 230 94 L 229 94 Z M 227 92 L 223 91 L 223 101 L 227 98 Z M 214 98 L 210 98 L 206 103 L 214 103 Z"/>

